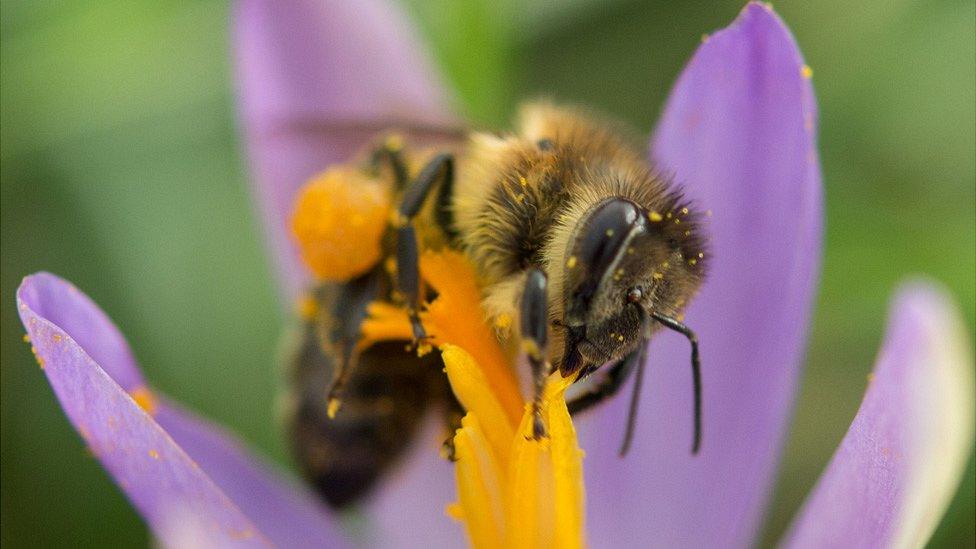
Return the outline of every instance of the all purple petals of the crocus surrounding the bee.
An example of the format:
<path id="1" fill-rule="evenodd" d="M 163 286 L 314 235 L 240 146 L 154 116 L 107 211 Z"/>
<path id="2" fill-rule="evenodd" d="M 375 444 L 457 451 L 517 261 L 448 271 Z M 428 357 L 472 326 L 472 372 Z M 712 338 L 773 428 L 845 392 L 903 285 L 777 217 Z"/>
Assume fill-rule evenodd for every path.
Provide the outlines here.
<path id="1" fill-rule="evenodd" d="M 235 23 L 257 195 L 283 293 L 292 299 L 306 282 L 287 237 L 298 187 L 370 137 L 353 128 L 409 122 L 430 129 L 418 137 L 433 139 L 456 118 L 393 6 L 253 0 L 238 6 Z M 586 452 L 585 536 L 593 546 L 744 547 L 756 540 L 818 273 L 822 211 L 810 75 L 779 18 L 750 3 L 700 46 L 671 94 L 650 159 L 714 212 L 711 277 L 687 311 L 707 358 L 706 438 L 701 454 L 689 456 L 689 374 L 677 366 L 687 349 L 662 334 L 651 345 L 652 383 L 630 455 L 616 456 L 625 399 L 576 422 Z M 465 531 L 476 544 L 491 535 L 445 516 L 459 495 L 463 505 L 484 493 L 466 489 L 460 470 L 455 485 L 453 466 L 437 456 L 435 429 L 366 503 L 367 526 L 354 532 L 235 438 L 150 389 L 119 330 L 70 283 L 29 276 L 17 302 L 68 419 L 166 545 L 442 547 L 462 545 Z M 469 350 L 445 350 L 455 390 L 465 372 L 478 374 Z M 918 546 L 928 539 L 972 445 L 969 352 L 942 290 L 914 282 L 898 292 L 861 408 L 785 546 Z M 568 417 L 562 425 L 572 427 Z M 538 493 L 531 483 L 525 490 Z"/>

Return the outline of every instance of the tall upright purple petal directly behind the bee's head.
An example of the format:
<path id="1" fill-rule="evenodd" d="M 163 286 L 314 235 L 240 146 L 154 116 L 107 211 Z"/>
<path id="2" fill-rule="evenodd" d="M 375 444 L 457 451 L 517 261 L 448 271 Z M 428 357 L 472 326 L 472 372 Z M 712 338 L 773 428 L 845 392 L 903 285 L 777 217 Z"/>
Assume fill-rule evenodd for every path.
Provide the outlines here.
<path id="1" fill-rule="evenodd" d="M 662 170 L 714 212 L 709 279 L 687 314 L 702 345 L 704 439 L 692 435 L 688 343 L 651 346 L 635 444 L 627 398 L 584 424 L 594 546 L 744 547 L 774 481 L 821 246 L 809 70 L 771 8 L 750 3 L 696 52 L 653 141 Z"/>

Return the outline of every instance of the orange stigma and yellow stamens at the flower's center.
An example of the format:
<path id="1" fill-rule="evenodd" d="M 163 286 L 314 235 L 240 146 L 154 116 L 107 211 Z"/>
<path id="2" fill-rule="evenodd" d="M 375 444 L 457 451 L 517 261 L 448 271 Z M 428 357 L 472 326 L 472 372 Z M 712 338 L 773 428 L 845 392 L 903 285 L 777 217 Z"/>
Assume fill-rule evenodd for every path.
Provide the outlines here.
<path id="1" fill-rule="evenodd" d="M 542 403 L 549 438 L 533 440 L 531 406 L 513 357 L 485 324 L 471 265 L 457 252 L 426 252 L 420 270 L 438 292 L 421 319 L 467 412 L 454 436 L 458 502 L 447 513 L 475 547 L 581 547 L 582 451 L 564 399 L 572 378 L 550 376 Z M 375 303 L 362 333 L 368 346 L 412 332 L 402 309 Z"/>

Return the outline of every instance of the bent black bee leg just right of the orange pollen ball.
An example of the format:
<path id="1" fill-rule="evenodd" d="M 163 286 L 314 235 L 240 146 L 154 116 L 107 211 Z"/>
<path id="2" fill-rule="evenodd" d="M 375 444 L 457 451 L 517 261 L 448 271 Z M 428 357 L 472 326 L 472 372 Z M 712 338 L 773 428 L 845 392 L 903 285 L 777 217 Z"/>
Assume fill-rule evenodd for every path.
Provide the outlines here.
<path id="1" fill-rule="evenodd" d="M 424 330 L 424 326 L 420 322 L 419 254 L 417 234 L 411 223 L 438 183 L 442 184 L 438 206 L 441 206 L 442 201 L 448 201 L 453 181 L 454 158 L 449 154 L 437 155 L 407 187 L 394 221 L 397 230 L 397 289 L 407 303 L 407 314 L 410 317 L 410 325 L 413 329 L 414 344 L 418 346 L 427 339 L 427 331 Z M 445 194 L 445 189 L 447 189 L 447 194 Z M 444 210 L 443 207 L 437 208 L 438 214 Z M 438 222 L 440 223 L 440 221 Z"/>

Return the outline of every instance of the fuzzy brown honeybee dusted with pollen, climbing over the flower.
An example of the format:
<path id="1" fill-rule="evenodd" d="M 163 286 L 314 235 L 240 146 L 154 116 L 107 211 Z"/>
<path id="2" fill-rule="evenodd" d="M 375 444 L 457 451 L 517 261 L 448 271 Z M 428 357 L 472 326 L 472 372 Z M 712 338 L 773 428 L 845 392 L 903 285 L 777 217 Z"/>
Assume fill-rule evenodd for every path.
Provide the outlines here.
<path id="1" fill-rule="evenodd" d="M 327 502 L 343 507 L 368 493 L 435 404 L 448 425 L 461 417 L 439 355 L 405 350 L 428 338 L 419 314 L 432 297 L 418 268 L 426 247 L 466 256 L 486 321 L 528 356 L 536 438 L 546 436 L 539 405 L 551 372 L 589 379 L 567 401 L 573 414 L 635 377 L 625 454 L 649 339 L 662 327 L 687 337 L 697 453 L 698 342 L 680 319 L 706 272 L 703 216 L 632 135 L 583 109 L 538 102 L 521 109 L 510 134 L 472 131 L 434 149 L 380 138 L 357 161 L 392 189 L 396 211 L 365 274 L 314 291 L 290 369 L 292 446 Z M 412 341 L 357 348 L 374 301 L 406 310 Z"/>

